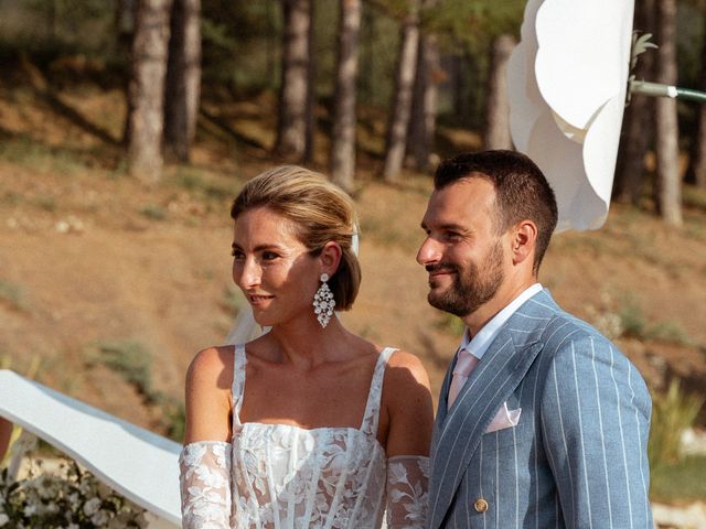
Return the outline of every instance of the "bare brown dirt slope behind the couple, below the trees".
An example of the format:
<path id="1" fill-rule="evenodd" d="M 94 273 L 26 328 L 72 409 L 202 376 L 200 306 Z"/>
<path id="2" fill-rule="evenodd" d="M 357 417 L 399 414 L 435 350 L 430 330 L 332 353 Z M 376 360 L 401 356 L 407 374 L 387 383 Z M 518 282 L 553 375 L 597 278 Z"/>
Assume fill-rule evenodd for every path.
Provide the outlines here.
<path id="1" fill-rule="evenodd" d="M 20 373 L 39 361 L 42 382 L 164 432 L 160 403 L 179 402 L 190 359 L 223 338 L 239 302 L 228 202 L 275 163 L 265 149 L 271 114 L 220 107 L 237 134 L 204 118 L 194 162 L 147 185 L 120 164 L 120 101 L 97 89 L 49 97 L 41 84 L 0 85 L 0 360 Z M 361 164 L 364 279 L 343 319 L 418 355 L 436 392 L 459 326 L 428 306 L 415 262 L 430 181 L 407 174 L 387 186 L 372 176 L 375 160 Z M 703 194 L 689 191 L 682 229 L 613 206 L 603 229 L 557 235 L 541 280 L 612 334 L 653 389 L 677 374 L 706 391 Z M 115 349 L 122 356 L 111 363 Z"/>

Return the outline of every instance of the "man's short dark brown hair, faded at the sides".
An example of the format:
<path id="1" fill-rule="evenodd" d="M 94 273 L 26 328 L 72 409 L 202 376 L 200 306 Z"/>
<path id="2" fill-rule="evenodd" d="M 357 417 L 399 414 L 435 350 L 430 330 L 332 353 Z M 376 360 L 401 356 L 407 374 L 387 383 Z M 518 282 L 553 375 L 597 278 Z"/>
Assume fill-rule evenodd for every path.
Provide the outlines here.
<path id="1" fill-rule="evenodd" d="M 459 180 L 474 177 L 488 180 L 495 188 L 495 223 L 500 233 L 524 219 L 537 225 L 533 268 L 538 270 L 557 223 L 556 198 L 547 179 L 520 152 L 480 151 L 443 160 L 434 175 L 434 188 L 441 190 Z"/>

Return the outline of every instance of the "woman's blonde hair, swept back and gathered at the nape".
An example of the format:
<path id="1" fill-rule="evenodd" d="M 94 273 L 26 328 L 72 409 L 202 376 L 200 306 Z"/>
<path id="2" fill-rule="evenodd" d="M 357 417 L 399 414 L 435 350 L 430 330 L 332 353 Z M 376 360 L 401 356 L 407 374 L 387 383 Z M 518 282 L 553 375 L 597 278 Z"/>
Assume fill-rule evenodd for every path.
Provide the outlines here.
<path id="1" fill-rule="evenodd" d="M 323 246 L 338 242 L 341 263 L 329 280 L 336 310 L 349 310 L 361 284 L 361 266 L 353 250 L 357 219 L 353 201 L 325 176 L 298 165 L 281 165 L 248 181 L 231 207 L 231 217 L 256 207 L 267 207 L 288 219 L 297 238 L 313 256 Z"/>

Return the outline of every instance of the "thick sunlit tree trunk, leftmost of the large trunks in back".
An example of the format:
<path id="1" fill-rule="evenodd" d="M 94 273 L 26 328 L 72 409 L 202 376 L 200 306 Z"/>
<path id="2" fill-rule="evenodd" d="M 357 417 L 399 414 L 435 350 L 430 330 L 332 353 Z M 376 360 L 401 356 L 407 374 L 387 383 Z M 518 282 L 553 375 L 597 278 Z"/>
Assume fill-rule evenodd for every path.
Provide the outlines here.
<path id="1" fill-rule="evenodd" d="M 162 170 L 164 77 L 171 0 L 140 0 L 132 42 L 130 173 L 158 181 Z"/>

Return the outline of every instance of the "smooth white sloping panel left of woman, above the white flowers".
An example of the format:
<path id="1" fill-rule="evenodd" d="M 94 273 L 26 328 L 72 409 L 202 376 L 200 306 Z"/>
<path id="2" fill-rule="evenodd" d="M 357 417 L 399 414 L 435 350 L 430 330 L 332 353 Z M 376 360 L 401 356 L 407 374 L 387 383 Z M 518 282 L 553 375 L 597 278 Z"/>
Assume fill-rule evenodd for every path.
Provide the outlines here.
<path id="1" fill-rule="evenodd" d="M 161 519 L 150 527 L 181 526 L 179 443 L 8 369 L 0 369 L 0 417 Z"/>

